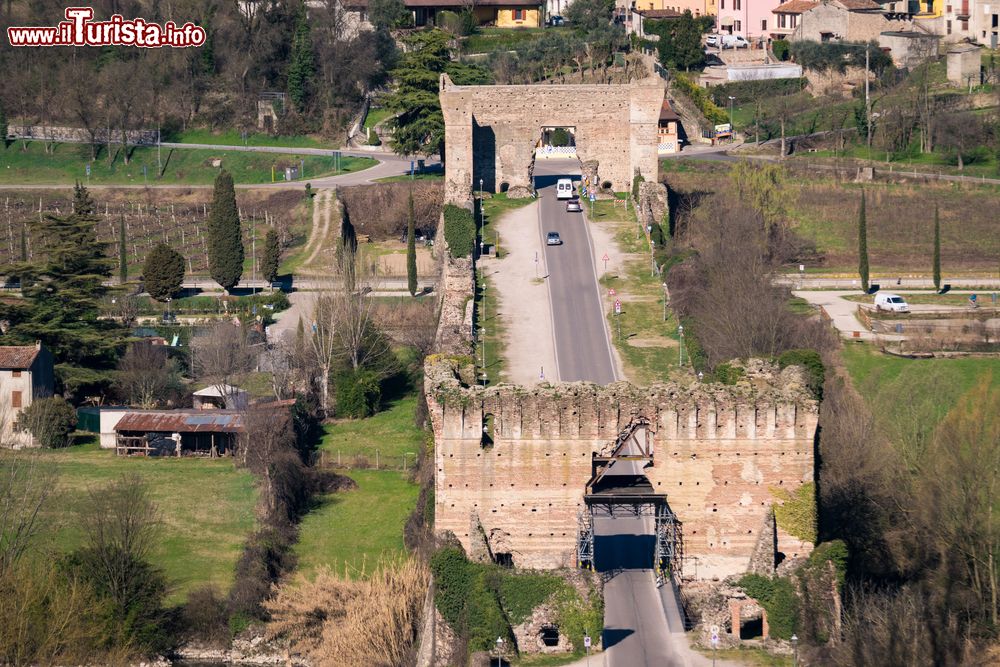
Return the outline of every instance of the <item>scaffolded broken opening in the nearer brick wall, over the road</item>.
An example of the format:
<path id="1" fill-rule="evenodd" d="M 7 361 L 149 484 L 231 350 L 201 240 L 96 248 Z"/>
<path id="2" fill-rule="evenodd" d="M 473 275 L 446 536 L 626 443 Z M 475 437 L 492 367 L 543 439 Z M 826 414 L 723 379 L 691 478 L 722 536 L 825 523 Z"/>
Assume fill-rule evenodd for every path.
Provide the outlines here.
<path id="1" fill-rule="evenodd" d="M 679 573 L 681 530 L 667 496 L 643 470 L 653 464 L 653 432 L 634 419 L 615 442 L 592 457 L 580 513 L 577 562 L 600 572 L 654 569 Z"/>

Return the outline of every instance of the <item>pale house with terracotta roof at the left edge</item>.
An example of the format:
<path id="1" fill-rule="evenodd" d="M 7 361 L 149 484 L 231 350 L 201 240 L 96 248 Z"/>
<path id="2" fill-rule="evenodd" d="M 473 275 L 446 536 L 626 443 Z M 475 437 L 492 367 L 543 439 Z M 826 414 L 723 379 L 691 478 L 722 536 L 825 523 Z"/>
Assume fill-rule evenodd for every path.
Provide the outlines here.
<path id="1" fill-rule="evenodd" d="M 40 342 L 0 346 L 0 445 L 36 444 L 30 433 L 17 431 L 14 425 L 32 401 L 52 396 L 54 386 L 52 353 Z"/>

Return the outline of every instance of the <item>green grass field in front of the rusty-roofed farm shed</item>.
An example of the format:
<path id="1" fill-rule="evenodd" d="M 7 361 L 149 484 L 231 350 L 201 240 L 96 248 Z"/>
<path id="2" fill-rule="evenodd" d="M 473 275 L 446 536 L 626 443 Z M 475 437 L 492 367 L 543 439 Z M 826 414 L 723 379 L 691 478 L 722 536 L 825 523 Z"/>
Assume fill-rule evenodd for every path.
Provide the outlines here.
<path id="1" fill-rule="evenodd" d="M 42 521 L 43 545 L 59 553 L 79 546 L 73 507 L 88 491 L 135 473 L 148 482 L 159 507 L 162 523 L 152 559 L 166 572 L 169 601 L 183 602 L 202 584 L 229 589 L 240 549 L 254 528 L 257 500 L 250 473 L 237 470 L 231 459 L 122 458 L 94 442 L 37 455 L 58 475 L 57 498 Z"/>

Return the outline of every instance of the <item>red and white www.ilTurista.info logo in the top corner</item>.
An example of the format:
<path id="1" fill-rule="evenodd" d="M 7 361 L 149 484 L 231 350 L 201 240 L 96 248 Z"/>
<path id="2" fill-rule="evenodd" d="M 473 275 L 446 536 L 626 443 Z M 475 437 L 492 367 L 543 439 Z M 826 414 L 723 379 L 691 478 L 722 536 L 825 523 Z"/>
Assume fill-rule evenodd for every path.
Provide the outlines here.
<path id="1" fill-rule="evenodd" d="M 143 19 L 125 19 L 120 14 L 109 21 L 91 21 L 92 18 L 92 7 L 67 7 L 66 20 L 56 27 L 11 27 L 7 28 L 7 39 L 11 46 L 139 46 L 145 49 L 205 43 L 205 29 L 190 21 L 178 26 L 173 21 L 160 25 Z"/>

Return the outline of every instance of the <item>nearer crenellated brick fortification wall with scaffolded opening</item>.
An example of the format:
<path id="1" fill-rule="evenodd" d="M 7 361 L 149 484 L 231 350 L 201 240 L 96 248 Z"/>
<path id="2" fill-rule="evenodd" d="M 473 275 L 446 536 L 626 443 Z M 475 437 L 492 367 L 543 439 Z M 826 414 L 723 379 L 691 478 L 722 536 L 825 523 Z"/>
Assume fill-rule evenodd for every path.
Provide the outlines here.
<path id="1" fill-rule="evenodd" d="M 735 386 L 625 382 L 469 387 L 431 357 L 425 388 L 435 435 L 435 527 L 468 549 L 482 531 L 518 566 L 575 565 L 591 456 L 636 417 L 655 431 L 647 476 L 683 523 L 684 574 L 744 572 L 770 524 L 773 489 L 813 479 L 817 404 L 797 369 L 754 362 Z M 491 416 L 491 419 L 487 419 Z M 492 424 L 483 445 L 484 422 Z M 788 557 L 811 545 L 777 531 Z"/>

